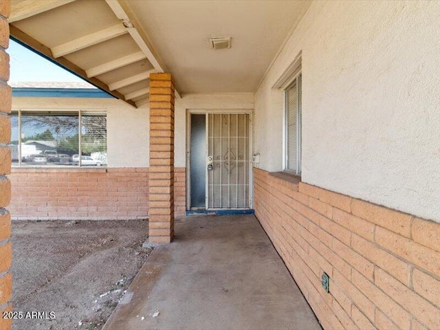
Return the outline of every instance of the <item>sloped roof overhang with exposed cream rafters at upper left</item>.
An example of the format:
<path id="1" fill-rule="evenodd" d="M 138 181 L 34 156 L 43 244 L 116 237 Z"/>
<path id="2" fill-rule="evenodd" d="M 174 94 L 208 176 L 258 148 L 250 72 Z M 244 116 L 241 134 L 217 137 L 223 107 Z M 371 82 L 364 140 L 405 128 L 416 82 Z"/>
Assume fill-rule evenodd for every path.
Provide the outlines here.
<path id="1" fill-rule="evenodd" d="M 12 1 L 12 39 L 137 107 L 164 72 L 133 13 L 116 0 Z"/>

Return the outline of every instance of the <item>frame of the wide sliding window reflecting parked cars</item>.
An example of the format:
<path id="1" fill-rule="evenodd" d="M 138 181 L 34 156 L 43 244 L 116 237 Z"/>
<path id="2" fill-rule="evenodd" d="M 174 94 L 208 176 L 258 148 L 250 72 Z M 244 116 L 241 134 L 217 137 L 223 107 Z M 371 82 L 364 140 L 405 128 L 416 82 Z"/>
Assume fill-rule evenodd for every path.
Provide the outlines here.
<path id="1" fill-rule="evenodd" d="M 82 156 L 83 155 L 83 151 L 82 151 L 82 120 L 81 118 L 83 116 L 91 116 L 91 115 L 96 115 L 96 116 L 102 116 L 106 118 L 106 126 L 105 126 L 105 130 L 106 130 L 106 135 L 108 133 L 108 121 L 107 121 L 107 110 L 106 109 L 90 109 L 90 110 L 84 110 L 84 109 L 12 109 L 10 115 L 17 115 L 17 119 L 18 119 L 18 129 L 19 129 L 19 143 L 18 143 L 18 151 L 19 151 L 19 162 L 18 164 L 12 164 L 12 168 L 84 168 L 81 160 L 82 157 L 78 157 L 78 165 L 52 165 L 52 166 L 47 166 L 47 164 L 43 164 L 43 165 L 39 165 L 39 166 L 22 166 L 23 160 L 21 157 L 21 139 L 22 139 L 22 113 L 45 113 L 46 115 L 51 115 L 51 113 L 77 113 L 78 114 L 78 155 Z M 106 138 L 106 153 L 108 151 L 108 137 Z M 104 167 L 107 167 L 107 164 L 104 164 Z M 86 168 L 89 168 L 89 166 L 87 166 Z"/>

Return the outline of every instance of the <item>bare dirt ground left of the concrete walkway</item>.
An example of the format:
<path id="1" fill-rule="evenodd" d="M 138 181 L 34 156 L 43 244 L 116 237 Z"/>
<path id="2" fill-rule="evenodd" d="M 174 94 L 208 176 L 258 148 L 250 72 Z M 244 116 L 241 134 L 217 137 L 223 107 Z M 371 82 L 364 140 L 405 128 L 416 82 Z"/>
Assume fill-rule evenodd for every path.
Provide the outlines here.
<path id="1" fill-rule="evenodd" d="M 13 310 L 23 319 L 12 329 L 101 329 L 151 253 L 147 232 L 146 220 L 13 221 Z"/>

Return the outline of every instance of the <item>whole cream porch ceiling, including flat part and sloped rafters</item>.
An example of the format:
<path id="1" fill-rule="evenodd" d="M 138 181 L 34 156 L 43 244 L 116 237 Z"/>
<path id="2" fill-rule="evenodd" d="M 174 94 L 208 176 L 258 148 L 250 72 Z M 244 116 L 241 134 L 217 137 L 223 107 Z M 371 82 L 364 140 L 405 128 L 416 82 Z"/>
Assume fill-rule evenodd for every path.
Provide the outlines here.
<path id="1" fill-rule="evenodd" d="M 148 76 L 179 93 L 254 92 L 309 1 L 12 0 L 10 34 L 139 107 Z M 212 50 L 210 37 L 232 37 Z"/>

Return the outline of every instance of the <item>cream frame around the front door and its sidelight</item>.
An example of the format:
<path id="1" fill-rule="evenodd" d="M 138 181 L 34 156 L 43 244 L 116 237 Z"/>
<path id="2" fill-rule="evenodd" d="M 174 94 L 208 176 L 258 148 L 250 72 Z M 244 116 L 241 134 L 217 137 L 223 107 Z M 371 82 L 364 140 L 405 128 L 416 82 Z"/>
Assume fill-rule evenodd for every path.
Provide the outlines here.
<path id="1" fill-rule="evenodd" d="M 250 132 L 249 132 L 249 208 L 254 208 L 254 173 L 252 166 L 252 155 L 254 154 L 254 124 L 252 115 L 253 109 L 186 109 L 186 210 L 191 206 L 191 171 L 190 171 L 190 137 L 191 137 L 191 114 L 206 115 L 208 113 L 246 113 L 249 114 Z M 206 125 L 208 125 L 208 116 L 206 116 Z M 206 130 L 206 155 L 208 156 L 208 127 Z M 205 196 L 208 192 L 208 170 L 205 170 L 206 184 Z M 208 210 L 208 198 L 205 198 L 205 210 Z M 221 210 L 221 209 L 220 209 Z"/>

